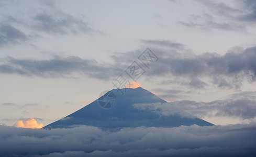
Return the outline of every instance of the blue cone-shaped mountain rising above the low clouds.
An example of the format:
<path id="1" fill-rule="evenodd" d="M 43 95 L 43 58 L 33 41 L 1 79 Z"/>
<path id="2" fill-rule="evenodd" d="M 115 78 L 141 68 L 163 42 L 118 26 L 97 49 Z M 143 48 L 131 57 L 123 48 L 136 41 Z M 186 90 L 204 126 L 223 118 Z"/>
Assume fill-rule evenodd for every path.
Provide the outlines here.
<path id="1" fill-rule="evenodd" d="M 91 104 L 43 128 L 89 125 L 112 130 L 123 127 L 177 127 L 194 124 L 213 125 L 138 87 L 112 89 Z"/>

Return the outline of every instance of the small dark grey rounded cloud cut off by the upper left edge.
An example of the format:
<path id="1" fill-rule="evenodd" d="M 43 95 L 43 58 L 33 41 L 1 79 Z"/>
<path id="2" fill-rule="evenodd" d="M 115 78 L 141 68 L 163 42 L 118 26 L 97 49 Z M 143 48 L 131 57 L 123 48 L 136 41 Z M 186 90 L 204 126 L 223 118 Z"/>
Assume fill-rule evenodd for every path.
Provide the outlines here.
<path id="1" fill-rule="evenodd" d="M 9 43 L 19 43 L 28 40 L 27 35 L 12 25 L 0 24 L 0 47 Z"/>

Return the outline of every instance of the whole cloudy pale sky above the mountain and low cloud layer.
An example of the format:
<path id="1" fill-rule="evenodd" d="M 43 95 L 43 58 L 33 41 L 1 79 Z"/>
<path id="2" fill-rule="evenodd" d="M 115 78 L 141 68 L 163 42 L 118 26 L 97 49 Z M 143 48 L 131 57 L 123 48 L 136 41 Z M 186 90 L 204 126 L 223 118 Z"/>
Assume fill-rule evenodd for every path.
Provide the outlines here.
<path id="1" fill-rule="evenodd" d="M 134 61 L 167 102 L 215 125 L 255 122 L 255 25 L 254 1 L 0 1 L 0 123 L 46 126 Z"/>

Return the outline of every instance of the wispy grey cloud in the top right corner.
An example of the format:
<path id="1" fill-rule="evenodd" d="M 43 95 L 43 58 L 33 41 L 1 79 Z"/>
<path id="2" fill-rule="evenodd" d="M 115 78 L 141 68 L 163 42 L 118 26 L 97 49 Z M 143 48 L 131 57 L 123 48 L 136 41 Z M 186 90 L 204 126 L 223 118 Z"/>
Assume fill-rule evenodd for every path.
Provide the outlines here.
<path id="1" fill-rule="evenodd" d="M 179 24 L 198 29 L 222 29 L 247 31 L 247 26 L 255 19 L 254 1 L 236 1 L 234 6 L 222 2 L 201 1 L 199 4 L 206 7 L 206 10 L 199 15 L 191 15 L 190 20 L 180 21 Z"/>

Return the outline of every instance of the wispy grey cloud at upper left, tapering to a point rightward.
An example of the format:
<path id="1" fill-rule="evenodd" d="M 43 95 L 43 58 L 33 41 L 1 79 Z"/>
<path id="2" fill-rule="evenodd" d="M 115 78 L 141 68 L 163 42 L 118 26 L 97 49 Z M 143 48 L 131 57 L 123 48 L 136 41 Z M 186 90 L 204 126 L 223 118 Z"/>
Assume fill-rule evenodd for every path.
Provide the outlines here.
<path id="1" fill-rule="evenodd" d="M 38 31 L 46 32 L 51 35 L 65 35 L 80 33 L 87 33 L 93 35 L 94 33 L 103 33 L 102 31 L 95 30 L 84 21 L 85 15 L 72 16 L 62 12 L 55 4 L 55 2 L 39 2 L 46 9 L 39 12 L 32 17 L 30 27 Z"/>

